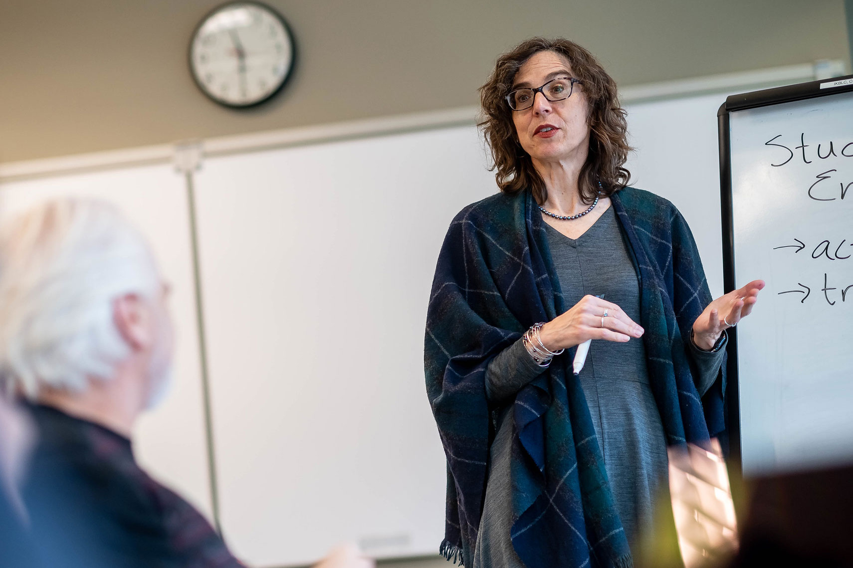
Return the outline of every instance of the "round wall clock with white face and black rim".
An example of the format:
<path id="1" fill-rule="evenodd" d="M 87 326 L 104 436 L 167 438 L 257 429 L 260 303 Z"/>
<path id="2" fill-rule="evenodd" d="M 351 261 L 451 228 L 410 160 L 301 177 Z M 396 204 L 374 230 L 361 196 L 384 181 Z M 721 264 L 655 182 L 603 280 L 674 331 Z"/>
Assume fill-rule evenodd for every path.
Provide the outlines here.
<path id="1" fill-rule="evenodd" d="M 293 68 L 293 36 L 273 9 L 237 2 L 213 10 L 189 48 L 195 83 L 227 107 L 252 107 L 276 95 Z"/>

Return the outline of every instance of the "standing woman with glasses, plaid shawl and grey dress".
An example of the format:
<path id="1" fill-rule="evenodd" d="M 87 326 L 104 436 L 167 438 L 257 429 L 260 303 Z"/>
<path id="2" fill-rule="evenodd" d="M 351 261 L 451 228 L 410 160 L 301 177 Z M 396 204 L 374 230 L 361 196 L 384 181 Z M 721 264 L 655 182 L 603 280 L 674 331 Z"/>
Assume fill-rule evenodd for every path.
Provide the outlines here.
<path id="1" fill-rule="evenodd" d="M 589 51 L 533 38 L 480 92 L 501 193 L 450 224 L 427 315 L 442 552 L 630 566 L 665 494 L 666 446 L 723 429 L 724 330 L 764 284 L 711 301 L 682 215 L 626 187 L 625 113 Z"/>

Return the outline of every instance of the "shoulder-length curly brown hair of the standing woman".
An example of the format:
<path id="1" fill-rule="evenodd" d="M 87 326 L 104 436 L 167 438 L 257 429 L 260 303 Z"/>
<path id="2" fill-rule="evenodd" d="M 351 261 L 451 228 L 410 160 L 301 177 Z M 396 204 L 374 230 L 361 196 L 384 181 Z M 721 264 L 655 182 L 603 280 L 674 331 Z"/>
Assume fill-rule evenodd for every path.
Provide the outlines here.
<path id="1" fill-rule="evenodd" d="M 628 153 L 628 125 L 624 108 L 619 106 L 616 82 L 595 56 L 568 39 L 531 38 L 501 55 L 489 80 L 479 88 L 485 120 L 479 123 L 491 149 L 495 178 L 501 191 L 515 194 L 530 188 L 539 204 L 548 199 L 548 190 L 533 166 L 530 155 L 521 148 L 513 123 L 513 110 L 506 96 L 513 87 L 516 72 L 531 55 L 554 51 L 563 55 L 581 80 L 589 101 L 589 155 L 578 179 L 581 199 L 590 203 L 599 193 L 610 196 L 628 185 L 630 171 L 623 166 Z"/>

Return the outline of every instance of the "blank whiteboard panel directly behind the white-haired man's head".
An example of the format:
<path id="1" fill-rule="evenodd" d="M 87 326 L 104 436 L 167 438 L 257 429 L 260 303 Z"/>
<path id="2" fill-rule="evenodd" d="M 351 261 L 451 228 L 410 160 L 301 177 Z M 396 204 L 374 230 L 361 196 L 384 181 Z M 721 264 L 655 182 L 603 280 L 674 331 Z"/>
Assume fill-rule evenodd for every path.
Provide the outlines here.
<path id="1" fill-rule="evenodd" d="M 39 201 L 61 195 L 111 201 L 142 230 L 166 281 L 176 349 L 171 392 L 142 414 L 134 452 L 154 478 L 177 490 L 212 518 L 195 296 L 184 178 L 168 165 L 122 168 L 0 183 L 0 223 Z"/>

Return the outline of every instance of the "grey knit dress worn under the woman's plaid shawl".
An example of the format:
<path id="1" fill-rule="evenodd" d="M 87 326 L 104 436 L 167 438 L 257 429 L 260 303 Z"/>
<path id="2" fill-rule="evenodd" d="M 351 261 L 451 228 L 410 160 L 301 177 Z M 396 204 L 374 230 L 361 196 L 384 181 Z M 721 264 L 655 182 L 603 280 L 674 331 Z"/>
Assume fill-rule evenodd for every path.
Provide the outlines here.
<path id="1" fill-rule="evenodd" d="M 640 323 L 640 289 L 612 207 L 578 239 L 569 239 L 543 223 L 560 281 L 564 305 L 586 294 L 605 294 Z M 720 371 L 722 349 L 702 351 L 688 342 L 699 394 L 705 394 Z M 486 394 L 501 407 L 490 449 L 489 480 L 473 568 L 522 568 L 510 538 L 512 480 L 510 459 L 515 394 L 543 372 L 521 340 L 499 353 L 486 370 Z M 669 499 L 666 438 L 646 368 L 641 339 L 627 343 L 593 341 L 580 374 L 595 434 L 604 456 L 614 504 L 631 548 L 641 532 L 653 530 L 658 499 Z M 529 566 L 527 568 L 540 568 Z"/>

